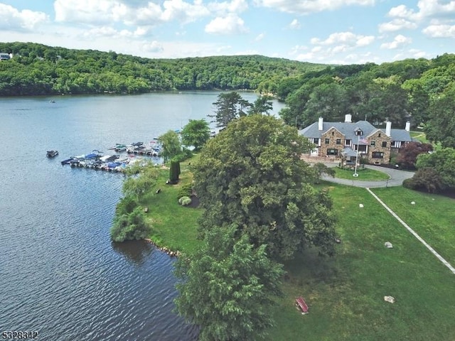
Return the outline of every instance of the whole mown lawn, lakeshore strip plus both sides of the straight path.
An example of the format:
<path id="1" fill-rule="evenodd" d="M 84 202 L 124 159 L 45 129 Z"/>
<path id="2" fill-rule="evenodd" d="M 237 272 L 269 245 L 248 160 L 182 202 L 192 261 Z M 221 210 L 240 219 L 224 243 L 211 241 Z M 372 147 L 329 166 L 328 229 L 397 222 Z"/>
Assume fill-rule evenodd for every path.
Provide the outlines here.
<path id="1" fill-rule="evenodd" d="M 181 169 L 178 185 L 165 185 L 168 171 L 161 171 L 161 193 L 149 193 L 141 204 L 149 207 L 158 244 L 191 251 L 200 243 L 196 235 L 201 211 L 178 205 L 178 189 L 192 180 L 187 163 Z M 332 258 L 308 249 L 284 262 L 284 296 L 277 298 L 276 326 L 267 340 L 455 340 L 455 275 L 367 190 L 322 186 L 333 197 L 341 244 Z M 374 192 L 454 265 L 455 200 L 401 187 Z M 385 242 L 392 242 L 393 249 L 385 248 Z M 385 302 L 388 295 L 397 301 Z M 294 308 L 297 296 L 306 299 L 308 315 Z"/>

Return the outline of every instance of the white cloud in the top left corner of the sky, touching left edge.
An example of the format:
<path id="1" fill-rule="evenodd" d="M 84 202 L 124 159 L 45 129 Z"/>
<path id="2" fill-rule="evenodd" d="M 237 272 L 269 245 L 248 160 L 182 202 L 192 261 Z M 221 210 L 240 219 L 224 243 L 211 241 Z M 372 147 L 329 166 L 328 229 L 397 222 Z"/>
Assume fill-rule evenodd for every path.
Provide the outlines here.
<path id="1" fill-rule="evenodd" d="M 39 23 L 48 21 L 43 12 L 24 9 L 18 11 L 13 6 L 0 4 L 0 28 L 2 31 L 31 31 Z"/>

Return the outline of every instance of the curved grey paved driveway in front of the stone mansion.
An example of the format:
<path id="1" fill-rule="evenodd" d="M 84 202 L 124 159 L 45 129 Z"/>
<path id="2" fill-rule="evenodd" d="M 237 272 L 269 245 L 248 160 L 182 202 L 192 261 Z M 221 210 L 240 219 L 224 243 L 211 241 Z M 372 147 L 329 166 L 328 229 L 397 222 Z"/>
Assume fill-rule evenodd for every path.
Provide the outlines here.
<path id="1" fill-rule="evenodd" d="M 326 163 L 328 167 L 335 167 L 338 166 L 338 163 Z M 343 185 L 350 185 L 355 187 L 363 187 L 363 188 L 375 188 L 375 187 L 392 187 L 392 186 L 401 186 L 403 180 L 412 178 L 414 172 L 408 171 L 399 171 L 397 169 L 392 168 L 385 168 L 380 166 L 372 166 L 372 165 L 365 165 L 365 168 L 374 169 L 376 171 L 380 171 L 382 173 L 387 173 L 390 177 L 389 180 L 353 180 L 348 179 L 341 179 L 341 178 L 332 178 L 331 176 L 323 176 L 323 180 L 331 181 L 332 183 L 341 183 Z M 354 173 L 354 172 L 353 172 Z"/>

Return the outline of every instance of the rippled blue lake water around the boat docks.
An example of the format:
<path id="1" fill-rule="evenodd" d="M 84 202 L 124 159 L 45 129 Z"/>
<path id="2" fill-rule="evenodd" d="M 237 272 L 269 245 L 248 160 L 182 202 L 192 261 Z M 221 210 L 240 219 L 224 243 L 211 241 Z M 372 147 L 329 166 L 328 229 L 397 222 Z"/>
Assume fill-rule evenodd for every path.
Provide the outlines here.
<path id="1" fill-rule="evenodd" d="M 109 239 L 123 175 L 60 161 L 181 129 L 213 114 L 218 94 L 0 98 L 0 332 L 197 339 L 198 328 L 173 313 L 174 259 L 146 242 Z M 274 102 L 274 114 L 282 107 Z M 46 158 L 50 149 L 59 156 Z"/>

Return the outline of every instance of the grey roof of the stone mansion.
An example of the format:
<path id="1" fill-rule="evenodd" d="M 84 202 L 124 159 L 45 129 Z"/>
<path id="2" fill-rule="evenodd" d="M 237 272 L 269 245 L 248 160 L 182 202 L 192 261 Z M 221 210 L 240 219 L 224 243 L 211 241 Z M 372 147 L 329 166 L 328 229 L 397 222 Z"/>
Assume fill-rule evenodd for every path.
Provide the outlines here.
<path id="1" fill-rule="evenodd" d="M 385 134 L 384 129 L 378 129 L 373 124 L 370 124 L 368 121 L 358 121 L 355 123 L 352 122 L 323 122 L 322 130 L 319 130 L 319 122 L 314 122 L 309 126 L 306 126 L 304 129 L 299 131 L 300 135 L 303 135 L 308 138 L 321 139 L 322 134 L 326 133 L 331 128 L 335 128 L 345 136 L 346 139 L 357 141 L 358 136 L 355 135 L 355 131 L 360 129 L 363 132 L 363 137 L 370 136 L 370 134 L 375 133 L 376 131 L 382 131 Z M 392 141 L 412 141 L 409 131 L 405 129 L 391 129 L 390 138 Z M 360 142 L 360 144 L 364 144 Z"/>

